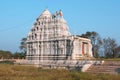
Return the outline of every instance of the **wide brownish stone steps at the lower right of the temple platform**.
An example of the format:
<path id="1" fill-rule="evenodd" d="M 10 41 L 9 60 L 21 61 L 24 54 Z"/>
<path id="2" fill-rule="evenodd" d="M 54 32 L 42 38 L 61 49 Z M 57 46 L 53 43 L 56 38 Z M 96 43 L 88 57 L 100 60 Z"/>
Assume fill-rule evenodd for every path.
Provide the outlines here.
<path id="1" fill-rule="evenodd" d="M 120 68 L 120 62 L 105 61 L 101 65 L 92 65 L 86 72 L 88 73 L 110 73 L 116 74 L 116 69 Z"/>

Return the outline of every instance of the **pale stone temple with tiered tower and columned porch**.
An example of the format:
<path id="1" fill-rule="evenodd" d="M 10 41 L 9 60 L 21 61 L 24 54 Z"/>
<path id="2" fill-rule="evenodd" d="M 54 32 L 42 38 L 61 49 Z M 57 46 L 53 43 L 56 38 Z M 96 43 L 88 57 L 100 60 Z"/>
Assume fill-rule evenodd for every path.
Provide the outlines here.
<path id="1" fill-rule="evenodd" d="M 93 57 L 91 40 L 71 35 L 61 10 L 51 14 L 45 9 L 33 24 L 26 43 L 26 60 L 38 66 Z"/>

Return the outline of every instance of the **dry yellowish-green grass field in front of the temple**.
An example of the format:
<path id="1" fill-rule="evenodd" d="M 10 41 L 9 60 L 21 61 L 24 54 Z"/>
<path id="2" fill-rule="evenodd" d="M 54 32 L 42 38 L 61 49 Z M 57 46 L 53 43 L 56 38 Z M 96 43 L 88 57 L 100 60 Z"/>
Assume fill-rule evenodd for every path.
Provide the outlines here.
<path id="1" fill-rule="evenodd" d="M 0 64 L 0 80 L 120 80 L 120 75 L 89 74 L 69 70 Z"/>

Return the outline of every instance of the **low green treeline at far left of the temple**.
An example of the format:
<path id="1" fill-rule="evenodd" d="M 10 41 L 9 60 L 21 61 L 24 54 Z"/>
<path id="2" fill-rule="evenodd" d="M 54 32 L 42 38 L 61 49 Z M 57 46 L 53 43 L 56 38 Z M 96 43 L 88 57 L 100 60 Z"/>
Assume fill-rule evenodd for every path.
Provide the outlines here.
<path id="1" fill-rule="evenodd" d="M 24 52 L 15 52 L 0 50 L 0 59 L 24 59 Z"/>

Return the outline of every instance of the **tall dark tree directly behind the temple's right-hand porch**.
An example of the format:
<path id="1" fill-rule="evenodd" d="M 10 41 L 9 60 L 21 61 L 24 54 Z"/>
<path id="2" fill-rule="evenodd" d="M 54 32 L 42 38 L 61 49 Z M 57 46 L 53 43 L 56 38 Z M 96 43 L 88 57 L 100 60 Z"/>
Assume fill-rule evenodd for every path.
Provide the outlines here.
<path id="1" fill-rule="evenodd" d="M 93 51 L 93 56 L 94 57 L 99 57 L 99 49 L 102 45 L 102 40 L 101 40 L 101 37 L 100 35 L 97 33 L 97 32 L 86 32 L 85 34 L 82 34 L 80 37 L 83 37 L 83 38 L 88 38 L 91 40 L 91 43 L 92 43 L 92 51 Z"/>

